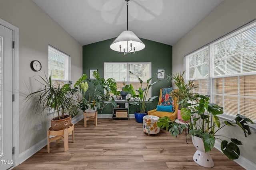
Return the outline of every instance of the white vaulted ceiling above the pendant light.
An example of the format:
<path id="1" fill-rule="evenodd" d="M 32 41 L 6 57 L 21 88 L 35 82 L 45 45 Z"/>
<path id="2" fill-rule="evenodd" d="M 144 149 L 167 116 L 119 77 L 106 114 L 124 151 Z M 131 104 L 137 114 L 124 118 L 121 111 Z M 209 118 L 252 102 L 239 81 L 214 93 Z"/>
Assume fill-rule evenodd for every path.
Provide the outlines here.
<path id="1" fill-rule="evenodd" d="M 126 30 L 125 0 L 33 0 L 81 45 Z M 223 0 L 130 0 L 128 30 L 174 45 Z"/>

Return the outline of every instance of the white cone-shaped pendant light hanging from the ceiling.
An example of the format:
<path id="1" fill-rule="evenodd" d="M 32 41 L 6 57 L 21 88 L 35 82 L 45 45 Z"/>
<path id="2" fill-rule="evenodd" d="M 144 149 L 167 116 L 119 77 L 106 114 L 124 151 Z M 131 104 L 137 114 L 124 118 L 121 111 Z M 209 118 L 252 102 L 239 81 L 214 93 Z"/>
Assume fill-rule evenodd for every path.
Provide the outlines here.
<path id="1" fill-rule="evenodd" d="M 134 54 L 135 51 L 140 51 L 145 48 L 145 44 L 132 32 L 128 31 L 128 1 L 126 1 L 127 6 L 127 30 L 123 31 L 115 41 L 110 45 L 110 48 L 114 51 L 124 52 Z"/>

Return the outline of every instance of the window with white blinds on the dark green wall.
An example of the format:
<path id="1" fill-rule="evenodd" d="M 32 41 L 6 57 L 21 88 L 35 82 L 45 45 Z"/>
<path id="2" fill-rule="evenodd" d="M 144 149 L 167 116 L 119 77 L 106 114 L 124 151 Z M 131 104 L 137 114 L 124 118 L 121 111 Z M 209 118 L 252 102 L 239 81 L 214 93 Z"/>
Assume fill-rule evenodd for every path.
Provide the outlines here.
<path id="1" fill-rule="evenodd" d="M 123 82 L 127 85 L 132 84 L 134 89 L 139 89 L 140 82 L 136 76 L 138 75 L 143 81 L 142 87 L 146 88 L 147 82 L 151 77 L 151 63 L 104 63 L 104 78 L 114 78 L 116 80 L 117 90 L 122 90 Z M 151 97 L 151 88 L 147 98 Z"/>

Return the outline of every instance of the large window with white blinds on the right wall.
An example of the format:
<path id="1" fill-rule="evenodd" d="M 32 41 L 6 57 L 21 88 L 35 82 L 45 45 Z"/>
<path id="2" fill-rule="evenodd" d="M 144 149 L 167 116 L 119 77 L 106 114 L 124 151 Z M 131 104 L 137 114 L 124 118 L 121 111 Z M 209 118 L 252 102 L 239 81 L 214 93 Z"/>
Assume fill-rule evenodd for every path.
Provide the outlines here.
<path id="1" fill-rule="evenodd" d="M 253 21 L 185 56 L 186 79 L 224 113 L 256 121 L 256 23 Z"/>

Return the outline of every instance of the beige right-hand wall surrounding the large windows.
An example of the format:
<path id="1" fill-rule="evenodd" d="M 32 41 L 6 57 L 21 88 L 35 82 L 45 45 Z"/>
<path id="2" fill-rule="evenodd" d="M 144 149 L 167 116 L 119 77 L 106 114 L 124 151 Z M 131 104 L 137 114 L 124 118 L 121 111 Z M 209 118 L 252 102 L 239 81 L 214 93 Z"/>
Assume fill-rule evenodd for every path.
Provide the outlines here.
<path id="1" fill-rule="evenodd" d="M 175 45 L 173 45 L 173 73 L 183 71 L 183 58 L 188 53 L 218 39 L 256 18 L 256 0 L 224 0 L 208 16 L 200 21 Z M 238 140 L 241 139 L 240 155 L 256 163 L 256 133 L 244 138 L 242 130 L 225 128 L 222 132 Z M 241 162 L 241 161 L 240 161 Z"/>

